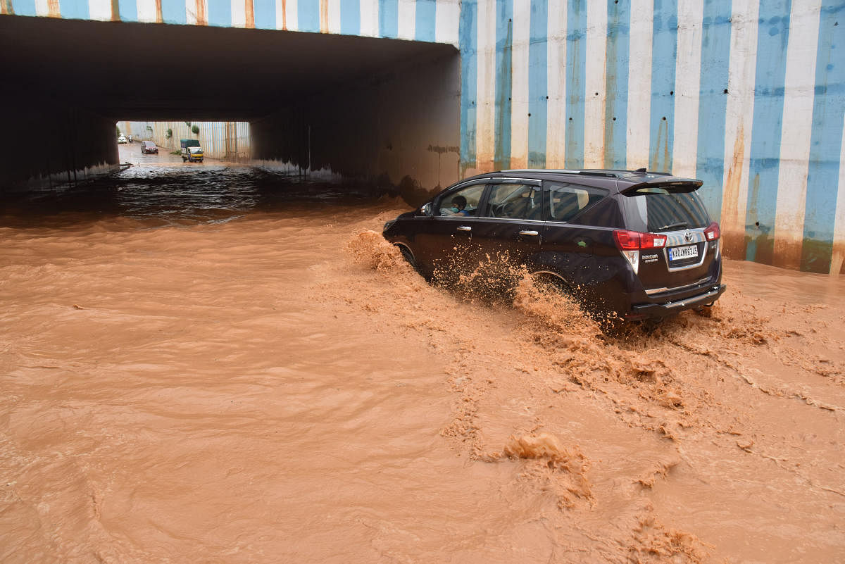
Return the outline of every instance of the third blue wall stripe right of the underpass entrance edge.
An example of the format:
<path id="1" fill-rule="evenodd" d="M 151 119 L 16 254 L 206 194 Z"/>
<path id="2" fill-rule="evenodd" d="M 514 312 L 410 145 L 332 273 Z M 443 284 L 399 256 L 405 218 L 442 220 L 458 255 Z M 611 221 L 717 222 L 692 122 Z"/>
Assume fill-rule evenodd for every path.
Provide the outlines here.
<path id="1" fill-rule="evenodd" d="M 528 46 L 528 166 L 546 167 L 548 128 L 548 0 L 532 0 Z"/>

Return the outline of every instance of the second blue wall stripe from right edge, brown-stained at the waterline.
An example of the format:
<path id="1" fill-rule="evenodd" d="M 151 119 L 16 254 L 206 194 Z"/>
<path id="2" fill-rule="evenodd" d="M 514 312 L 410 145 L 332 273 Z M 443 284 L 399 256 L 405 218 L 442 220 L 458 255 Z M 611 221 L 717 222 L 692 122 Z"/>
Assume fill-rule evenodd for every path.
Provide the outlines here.
<path id="1" fill-rule="evenodd" d="M 781 157 L 790 0 L 760 0 L 745 258 L 771 263 Z"/>

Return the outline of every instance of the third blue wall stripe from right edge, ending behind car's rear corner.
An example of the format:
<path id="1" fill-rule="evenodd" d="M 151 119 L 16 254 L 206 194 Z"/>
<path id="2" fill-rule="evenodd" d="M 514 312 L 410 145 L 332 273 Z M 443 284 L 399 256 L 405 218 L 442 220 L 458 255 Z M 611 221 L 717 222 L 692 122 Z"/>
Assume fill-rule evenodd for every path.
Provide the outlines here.
<path id="1" fill-rule="evenodd" d="M 704 182 L 698 193 L 711 218 L 717 221 L 722 216 L 722 179 L 725 172 L 731 9 L 731 0 L 707 0 L 701 28 L 701 101 L 698 106 L 695 177 Z"/>

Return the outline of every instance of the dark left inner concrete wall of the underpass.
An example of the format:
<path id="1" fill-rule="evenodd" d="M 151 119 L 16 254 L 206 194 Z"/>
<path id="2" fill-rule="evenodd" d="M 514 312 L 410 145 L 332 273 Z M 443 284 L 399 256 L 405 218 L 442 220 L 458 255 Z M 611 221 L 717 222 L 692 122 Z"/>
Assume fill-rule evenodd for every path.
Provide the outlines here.
<path id="1" fill-rule="evenodd" d="M 0 193 L 74 186 L 117 169 L 111 120 L 57 100 L 2 99 Z"/>

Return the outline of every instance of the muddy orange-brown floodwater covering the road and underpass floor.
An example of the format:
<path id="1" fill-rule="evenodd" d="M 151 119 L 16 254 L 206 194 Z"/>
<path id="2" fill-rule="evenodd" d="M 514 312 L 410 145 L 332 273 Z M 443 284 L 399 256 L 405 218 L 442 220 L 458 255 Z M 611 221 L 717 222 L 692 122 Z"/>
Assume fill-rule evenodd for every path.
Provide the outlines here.
<path id="1" fill-rule="evenodd" d="M 3 202 L 0 561 L 845 561 L 845 281 L 602 334 L 394 198 L 206 163 Z"/>

